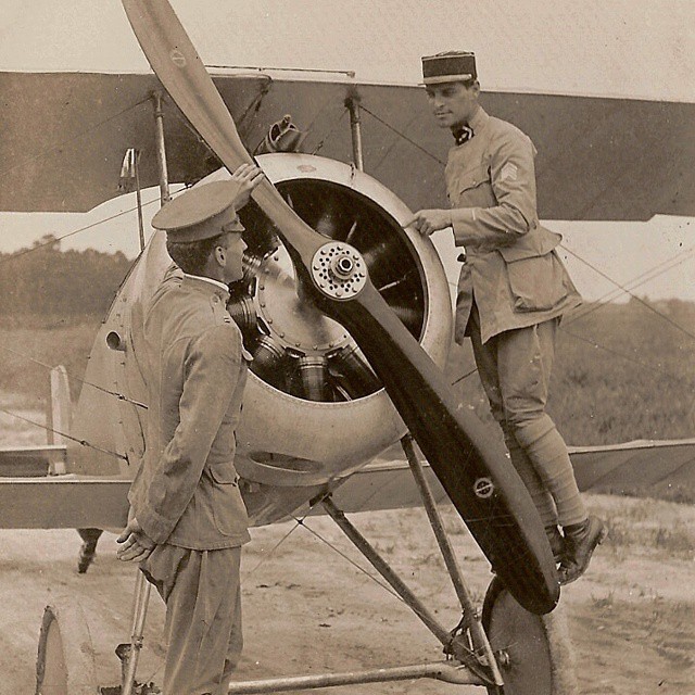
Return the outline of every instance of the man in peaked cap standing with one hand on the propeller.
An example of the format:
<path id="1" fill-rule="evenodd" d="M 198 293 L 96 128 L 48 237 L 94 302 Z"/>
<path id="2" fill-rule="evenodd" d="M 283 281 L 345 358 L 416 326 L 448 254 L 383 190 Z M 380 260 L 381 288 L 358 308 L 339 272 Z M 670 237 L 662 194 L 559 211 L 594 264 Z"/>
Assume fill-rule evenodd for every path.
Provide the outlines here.
<path id="1" fill-rule="evenodd" d="M 228 283 L 242 277 L 237 210 L 262 174 L 192 188 L 154 216 L 184 271 L 168 273 L 146 311 L 146 453 L 132 481 L 118 556 L 166 603 L 166 695 L 222 695 L 242 647 L 239 564 L 249 541 L 235 469 L 247 379 Z"/>

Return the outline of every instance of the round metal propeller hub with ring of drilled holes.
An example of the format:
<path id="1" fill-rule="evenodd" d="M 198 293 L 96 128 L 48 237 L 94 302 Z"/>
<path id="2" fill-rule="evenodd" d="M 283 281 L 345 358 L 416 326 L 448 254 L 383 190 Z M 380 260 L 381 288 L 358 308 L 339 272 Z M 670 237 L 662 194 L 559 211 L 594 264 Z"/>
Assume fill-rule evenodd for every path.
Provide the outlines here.
<path id="1" fill-rule="evenodd" d="M 367 282 L 367 265 L 359 251 L 344 241 L 325 243 L 312 260 L 318 289 L 336 300 L 356 296 Z"/>

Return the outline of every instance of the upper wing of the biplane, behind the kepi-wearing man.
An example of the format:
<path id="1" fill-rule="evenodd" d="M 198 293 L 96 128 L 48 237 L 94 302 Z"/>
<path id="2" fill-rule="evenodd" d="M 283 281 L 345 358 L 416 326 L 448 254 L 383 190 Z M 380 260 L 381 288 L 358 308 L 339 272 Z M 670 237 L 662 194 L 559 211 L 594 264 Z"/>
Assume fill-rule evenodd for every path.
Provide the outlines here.
<path id="1" fill-rule="evenodd" d="M 292 73 L 217 75 L 215 84 L 253 150 L 285 114 L 307 131 L 306 152 L 350 162 L 348 97 L 359 99 L 365 169 L 412 208 L 444 206 L 451 144 L 421 88 L 327 81 Z M 127 148 L 141 150 L 143 187 L 157 185 L 153 75 L 0 73 L 0 211 L 86 211 L 118 194 Z M 649 219 L 695 215 L 695 104 L 489 92 L 490 113 L 534 141 L 544 219 Z M 166 99 L 170 181 L 218 166 Z"/>

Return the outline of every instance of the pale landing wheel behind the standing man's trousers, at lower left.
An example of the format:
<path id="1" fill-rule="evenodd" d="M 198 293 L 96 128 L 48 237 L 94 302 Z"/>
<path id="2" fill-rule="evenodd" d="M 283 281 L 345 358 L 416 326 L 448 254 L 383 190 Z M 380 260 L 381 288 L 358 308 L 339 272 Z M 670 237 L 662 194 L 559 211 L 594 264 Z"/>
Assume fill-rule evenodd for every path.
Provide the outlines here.
<path id="1" fill-rule="evenodd" d="M 66 603 L 43 610 L 36 662 L 36 695 L 93 695 L 94 649 L 81 608 Z"/>

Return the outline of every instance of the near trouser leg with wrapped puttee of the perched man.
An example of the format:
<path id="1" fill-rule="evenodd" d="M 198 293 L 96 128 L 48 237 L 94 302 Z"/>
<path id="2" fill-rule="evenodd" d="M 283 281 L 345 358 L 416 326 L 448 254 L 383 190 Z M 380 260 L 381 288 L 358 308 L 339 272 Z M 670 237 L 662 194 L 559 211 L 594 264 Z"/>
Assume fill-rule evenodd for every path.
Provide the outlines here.
<path id="1" fill-rule="evenodd" d="M 545 413 L 557 320 L 506 331 L 497 339 L 497 374 L 506 426 L 557 508 L 560 526 L 586 519 L 567 445 Z"/>

